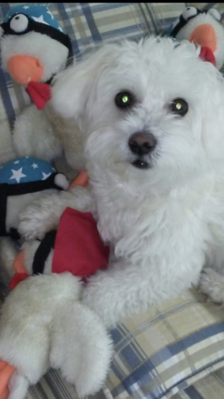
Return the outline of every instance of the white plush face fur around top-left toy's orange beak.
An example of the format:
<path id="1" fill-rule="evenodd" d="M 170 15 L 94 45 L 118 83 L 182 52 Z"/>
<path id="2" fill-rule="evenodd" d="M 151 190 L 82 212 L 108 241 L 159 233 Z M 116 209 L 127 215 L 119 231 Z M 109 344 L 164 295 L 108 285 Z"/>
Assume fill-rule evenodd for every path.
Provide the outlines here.
<path id="1" fill-rule="evenodd" d="M 1 39 L 2 67 L 7 71 L 7 62 L 14 55 L 30 55 L 44 66 L 41 82 L 46 82 L 66 65 L 68 48 L 59 41 L 38 32 L 26 35 L 6 35 Z"/>

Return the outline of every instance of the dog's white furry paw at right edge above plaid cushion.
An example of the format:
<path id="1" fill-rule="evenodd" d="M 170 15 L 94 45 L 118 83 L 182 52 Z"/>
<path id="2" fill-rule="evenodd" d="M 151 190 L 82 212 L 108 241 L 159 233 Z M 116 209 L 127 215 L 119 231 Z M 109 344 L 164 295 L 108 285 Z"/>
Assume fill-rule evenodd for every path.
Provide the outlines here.
<path id="1" fill-rule="evenodd" d="M 214 302 L 224 304 L 224 275 L 210 267 L 205 268 L 201 274 L 200 288 Z"/>

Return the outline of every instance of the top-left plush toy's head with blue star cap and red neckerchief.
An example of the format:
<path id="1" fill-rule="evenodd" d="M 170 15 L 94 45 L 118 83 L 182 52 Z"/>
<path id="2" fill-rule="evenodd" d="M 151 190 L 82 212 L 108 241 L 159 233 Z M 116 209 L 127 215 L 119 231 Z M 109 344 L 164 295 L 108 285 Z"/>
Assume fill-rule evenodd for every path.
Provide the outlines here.
<path id="1" fill-rule="evenodd" d="M 72 63 L 72 44 L 45 5 L 18 4 L 0 25 L 3 68 L 42 109 L 50 99 L 52 77 Z"/>

